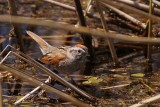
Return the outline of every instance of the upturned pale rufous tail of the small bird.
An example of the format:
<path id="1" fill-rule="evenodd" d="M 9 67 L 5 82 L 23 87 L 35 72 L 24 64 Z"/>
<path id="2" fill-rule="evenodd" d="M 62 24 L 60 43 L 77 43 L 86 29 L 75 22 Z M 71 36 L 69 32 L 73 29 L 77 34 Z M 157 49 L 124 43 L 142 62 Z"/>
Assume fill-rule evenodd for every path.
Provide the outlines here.
<path id="1" fill-rule="evenodd" d="M 39 44 L 43 55 L 51 51 L 52 46 L 49 45 L 44 39 L 42 39 L 40 36 L 38 36 L 37 34 L 31 31 L 26 31 L 26 32 L 30 37 L 32 37 Z"/>

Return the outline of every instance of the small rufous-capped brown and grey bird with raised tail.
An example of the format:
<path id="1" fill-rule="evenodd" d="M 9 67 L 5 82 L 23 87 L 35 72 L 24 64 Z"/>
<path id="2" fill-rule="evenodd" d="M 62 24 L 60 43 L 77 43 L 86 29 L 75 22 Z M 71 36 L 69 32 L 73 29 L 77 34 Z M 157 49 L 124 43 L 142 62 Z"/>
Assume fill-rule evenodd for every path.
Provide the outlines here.
<path id="1" fill-rule="evenodd" d="M 74 46 L 51 46 L 37 34 L 26 31 L 26 33 L 35 40 L 42 52 L 40 60 L 45 64 L 51 64 L 63 74 L 72 74 L 85 67 L 87 62 L 88 48 L 82 44 Z"/>

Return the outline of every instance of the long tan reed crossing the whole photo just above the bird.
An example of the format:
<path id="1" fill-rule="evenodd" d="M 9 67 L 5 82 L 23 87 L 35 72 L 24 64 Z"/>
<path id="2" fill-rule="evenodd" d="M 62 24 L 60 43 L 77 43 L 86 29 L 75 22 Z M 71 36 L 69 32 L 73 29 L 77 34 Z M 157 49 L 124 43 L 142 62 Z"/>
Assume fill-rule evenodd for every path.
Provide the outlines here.
<path id="1" fill-rule="evenodd" d="M 0 15 L 0 22 L 10 22 L 10 16 Z M 120 34 L 116 32 L 105 33 L 103 31 L 99 31 L 99 30 L 92 29 L 92 28 L 86 28 L 86 27 L 81 27 L 81 26 L 75 27 L 74 25 L 57 23 L 51 20 L 12 16 L 12 22 L 21 23 L 21 24 L 37 25 L 37 26 L 47 26 L 53 29 L 74 31 L 78 33 L 90 34 L 95 37 L 112 38 L 112 39 L 117 39 L 121 41 L 134 42 L 137 44 L 144 44 L 148 42 L 152 44 L 160 44 L 159 38 L 151 38 L 150 40 L 148 40 L 148 38 L 146 37 L 128 36 L 128 35 Z"/>

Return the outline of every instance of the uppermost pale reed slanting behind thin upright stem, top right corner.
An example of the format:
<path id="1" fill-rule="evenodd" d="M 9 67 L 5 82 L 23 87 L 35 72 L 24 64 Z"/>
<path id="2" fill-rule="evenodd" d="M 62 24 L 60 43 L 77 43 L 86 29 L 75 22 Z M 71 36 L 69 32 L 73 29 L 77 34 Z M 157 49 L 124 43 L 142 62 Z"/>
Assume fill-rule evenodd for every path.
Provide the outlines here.
<path id="1" fill-rule="evenodd" d="M 148 12 L 148 10 L 150 8 L 148 5 L 145 5 L 145 4 L 142 4 L 142 3 L 137 3 L 137 2 L 131 1 L 131 0 L 116 0 L 116 1 L 121 2 L 121 3 L 125 3 L 125 4 L 133 6 L 133 7 L 136 7 L 138 9 L 141 9 L 141 10 L 146 11 L 146 12 Z M 160 9 L 154 8 L 154 11 L 155 11 L 156 15 L 160 15 Z"/>

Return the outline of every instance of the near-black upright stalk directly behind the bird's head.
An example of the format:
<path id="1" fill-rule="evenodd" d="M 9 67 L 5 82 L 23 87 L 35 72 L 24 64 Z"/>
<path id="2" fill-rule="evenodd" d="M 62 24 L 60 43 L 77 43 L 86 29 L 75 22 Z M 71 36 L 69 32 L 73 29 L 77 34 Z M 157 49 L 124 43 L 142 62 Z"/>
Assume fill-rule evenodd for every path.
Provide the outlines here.
<path id="1" fill-rule="evenodd" d="M 83 10 L 82 10 L 82 6 L 81 6 L 81 2 L 80 0 L 74 0 L 75 2 L 75 6 L 76 6 L 76 12 L 78 15 L 78 19 L 79 19 L 79 24 L 83 27 L 86 27 L 86 20 L 83 14 Z M 92 36 L 90 34 L 84 34 L 81 33 L 81 37 L 83 39 L 84 45 L 88 48 L 88 53 L 90 55 L 89 57 L 89 62 L 86 63 L 86 68 L 84 70 L 84 75 L 90 75 L 92 72 L 92 65 L 93 65 L 93 60 L 94 60 L 94 49 L 92 46 Z"/>

